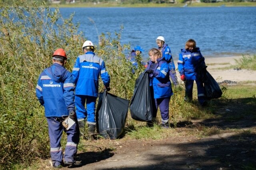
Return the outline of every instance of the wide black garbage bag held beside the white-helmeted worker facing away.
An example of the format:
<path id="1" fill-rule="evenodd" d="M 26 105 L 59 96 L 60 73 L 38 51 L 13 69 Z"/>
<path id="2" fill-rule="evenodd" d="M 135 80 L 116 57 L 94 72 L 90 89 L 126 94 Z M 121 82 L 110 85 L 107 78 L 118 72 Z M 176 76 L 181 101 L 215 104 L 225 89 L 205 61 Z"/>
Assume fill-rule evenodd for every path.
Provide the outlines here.
<path id="1" fill-rule="evenodd" d="M 110 94 L 100 93 L 96 110 L 96 129 L 104 138 L 116 139 L 124 131 L 129 100 Z"/>

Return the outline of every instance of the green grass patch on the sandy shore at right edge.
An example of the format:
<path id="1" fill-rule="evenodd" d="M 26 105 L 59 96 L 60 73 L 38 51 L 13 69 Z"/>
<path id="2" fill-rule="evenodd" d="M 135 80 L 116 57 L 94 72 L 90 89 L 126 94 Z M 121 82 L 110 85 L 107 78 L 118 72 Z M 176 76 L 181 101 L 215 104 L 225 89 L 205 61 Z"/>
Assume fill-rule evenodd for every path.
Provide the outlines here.
<path id="1" fill-rule="evenodd" d="M 256 54 L 253 56 L 243 56 L 241 59 L 236 60 L 236 67 L 256 70 Z"/>

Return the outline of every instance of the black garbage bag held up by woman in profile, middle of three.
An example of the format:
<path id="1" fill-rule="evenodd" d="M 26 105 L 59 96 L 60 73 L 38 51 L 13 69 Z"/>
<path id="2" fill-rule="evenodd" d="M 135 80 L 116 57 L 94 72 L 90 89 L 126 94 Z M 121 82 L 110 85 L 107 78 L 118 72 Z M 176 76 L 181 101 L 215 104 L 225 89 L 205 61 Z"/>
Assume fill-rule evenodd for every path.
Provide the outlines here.
<path id="1" fill-rule="evenodd" d="M 142 72 L 136 80 L 134 92 L 130 103 L 130 112 L 134 120 L 152 120 L 152 100 L 150 94 L 148 73 Z"/>

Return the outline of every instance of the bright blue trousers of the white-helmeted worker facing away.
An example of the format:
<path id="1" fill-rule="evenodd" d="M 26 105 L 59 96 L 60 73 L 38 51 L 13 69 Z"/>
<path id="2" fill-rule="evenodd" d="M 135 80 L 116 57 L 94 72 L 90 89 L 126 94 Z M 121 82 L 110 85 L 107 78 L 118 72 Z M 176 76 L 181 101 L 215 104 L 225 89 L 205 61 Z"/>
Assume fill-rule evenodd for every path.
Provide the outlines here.
<path id="1" fill-rule="evenodd" d="M 97 97 L 86 95 L 75 95 L 76 116 L 77 119 L 87 118 L 88 123 L 96 123 L 95 104 Z M 86 102 L 86 109 L 85 109 Z"/>

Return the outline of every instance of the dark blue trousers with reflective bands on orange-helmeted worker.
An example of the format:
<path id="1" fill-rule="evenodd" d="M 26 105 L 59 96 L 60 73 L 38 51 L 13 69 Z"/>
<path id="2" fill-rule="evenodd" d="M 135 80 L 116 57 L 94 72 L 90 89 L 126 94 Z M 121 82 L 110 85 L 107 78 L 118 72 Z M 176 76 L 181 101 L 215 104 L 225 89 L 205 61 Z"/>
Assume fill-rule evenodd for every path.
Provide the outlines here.
<path id="1" fill-rule="evenodd" d="M 50 153 L 53 166 L 59 166 L 62 163 L 62 147 L 60 140 L 63 130 L 67 134 L 67 144 L 65 148 L 64 161 L 75 162 L 74 156 L 77 152 L 77 145 L 79 143 L 79 127 L 77 119 L 68 130 L 62 126 L 62 117 L 49 117 L 46 118 L 48 122 L 48 133 L 50 138 Z"/>

